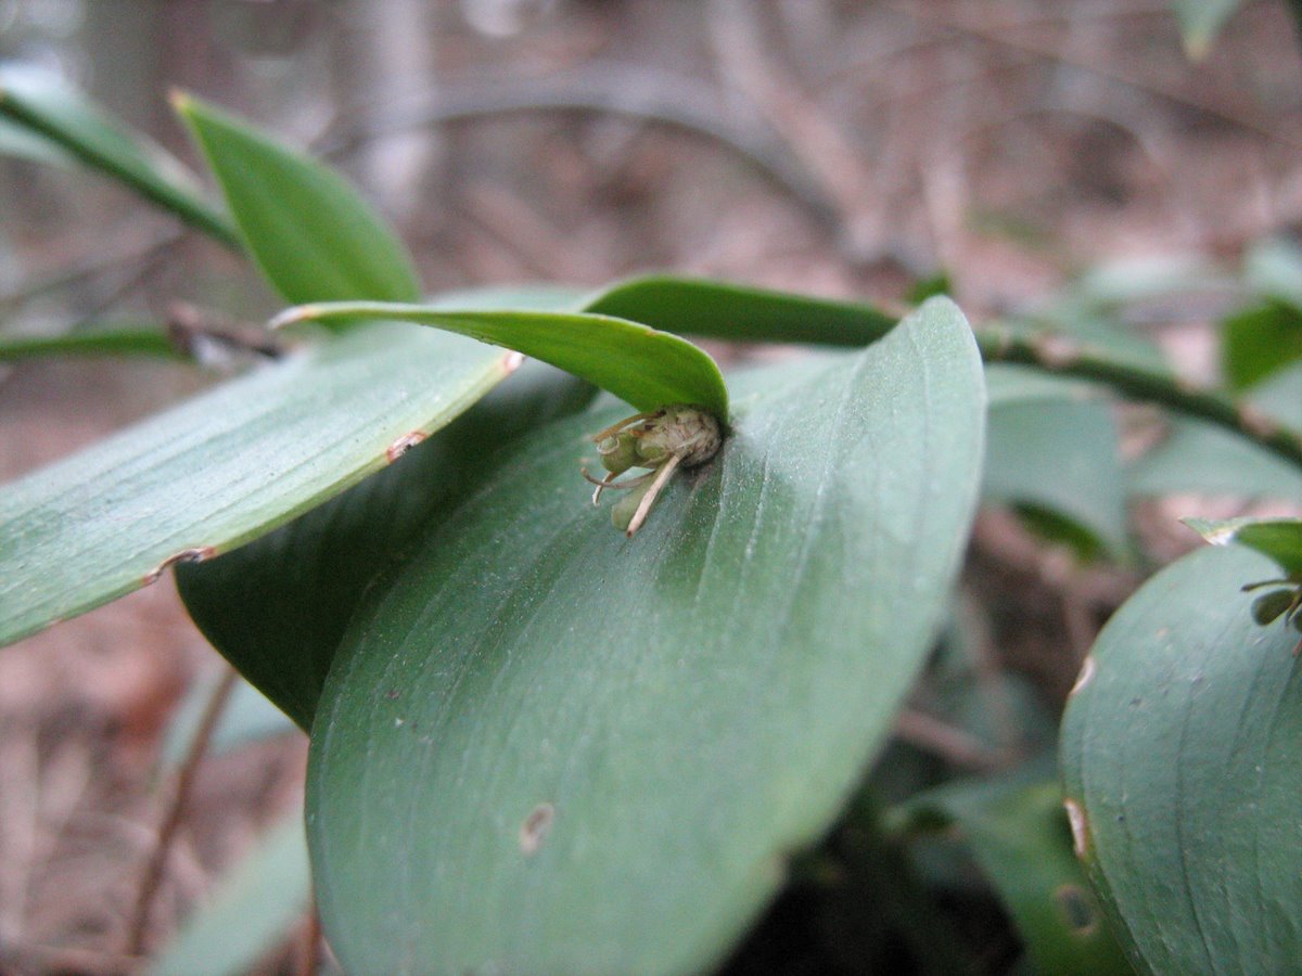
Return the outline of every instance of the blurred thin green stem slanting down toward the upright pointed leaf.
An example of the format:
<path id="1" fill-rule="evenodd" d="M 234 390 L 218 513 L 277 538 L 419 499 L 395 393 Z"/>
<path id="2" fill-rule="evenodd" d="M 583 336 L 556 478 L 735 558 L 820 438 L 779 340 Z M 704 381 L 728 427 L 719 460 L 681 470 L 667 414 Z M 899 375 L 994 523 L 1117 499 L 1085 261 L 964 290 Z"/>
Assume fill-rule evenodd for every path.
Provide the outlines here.
<path id="1" fill-rule="evenodd" d="M 57 125 L 39 109 L 26 104 L 16 92 L 0 87 L 0 116 L 43 135 L 56 146 L 66 150 L 92 169 L 113 177 L 138 193 L 145 199 L 171 211 L 198 230 L 225 245 L 233 251 L 243 252 L 243 242 L 230 219 L 182 186 L 173 185 L 159 174 L 143 174 L 135 167 L 116 159 L 91 139 L 81 138 L 73 129 Z"/>

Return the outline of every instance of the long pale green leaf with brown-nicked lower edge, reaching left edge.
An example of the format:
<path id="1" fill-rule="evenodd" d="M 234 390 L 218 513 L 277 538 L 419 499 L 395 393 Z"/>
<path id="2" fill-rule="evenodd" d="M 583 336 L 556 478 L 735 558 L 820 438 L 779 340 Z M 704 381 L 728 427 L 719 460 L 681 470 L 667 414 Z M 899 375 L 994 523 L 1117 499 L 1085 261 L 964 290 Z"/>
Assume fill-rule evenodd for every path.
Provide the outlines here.
<path id="1" fill-rule="evenodd" d="M 512 358 L 380 323 L 0 488 L 0 644 L 255 539 L 384 467 Z"/>

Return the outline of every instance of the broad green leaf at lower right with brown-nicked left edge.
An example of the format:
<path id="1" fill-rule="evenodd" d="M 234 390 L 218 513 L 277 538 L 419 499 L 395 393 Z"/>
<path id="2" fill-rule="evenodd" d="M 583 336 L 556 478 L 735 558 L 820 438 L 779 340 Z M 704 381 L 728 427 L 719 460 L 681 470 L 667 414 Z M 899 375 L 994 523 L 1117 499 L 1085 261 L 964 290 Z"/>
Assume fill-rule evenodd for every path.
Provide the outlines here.
<path id="1" fill-rule="evenodd" d="M 1295 972 L 1302 958 L 1302 669 L 1240 587 L 1276 571 L 1200 549 L 1108 622 L 1068 704 L 1077 854 L 1155 973 Z"/>

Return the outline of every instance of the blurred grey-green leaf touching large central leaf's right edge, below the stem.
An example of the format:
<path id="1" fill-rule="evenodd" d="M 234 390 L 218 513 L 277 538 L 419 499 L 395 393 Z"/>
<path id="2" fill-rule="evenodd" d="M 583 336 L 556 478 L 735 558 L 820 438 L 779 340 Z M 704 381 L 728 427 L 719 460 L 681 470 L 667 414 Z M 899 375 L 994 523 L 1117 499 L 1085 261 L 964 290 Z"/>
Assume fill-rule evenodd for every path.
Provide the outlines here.
<path id="1" fill-rule="evenodd" d="M 1113 556 L 1126 550 L 1121 458 L 1105 403 L 1062 398 L 993 407 L 982 491 L 1066 518 Z"/>

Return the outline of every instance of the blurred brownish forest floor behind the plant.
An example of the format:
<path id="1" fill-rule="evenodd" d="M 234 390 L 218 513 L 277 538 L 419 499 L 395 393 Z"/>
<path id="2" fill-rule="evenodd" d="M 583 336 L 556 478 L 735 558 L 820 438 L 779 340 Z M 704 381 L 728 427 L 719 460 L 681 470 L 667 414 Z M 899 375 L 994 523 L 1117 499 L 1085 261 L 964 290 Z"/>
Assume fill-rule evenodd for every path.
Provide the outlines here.
<path id="1" fill-rule="evenodd" d="M 1157 0 L 0 0 L 0 59 L 62 74 L 195 165 L 172 88 L 312 148 L 400 229 L 430 291 L 669 268 L 898 303 L 944 272 L 979 321 L 1116 262 L 1233 263 L 1302 223 L 1302 61 L 1276 1 L 1190 51 Z M 0 157 L 0 329 L 277 308 L 242 263 L 86 172 Z M 1210 377 L 1224 311 L 1208 297 L 1139 325 Z M 211 380 L 7 368 L 0 478 Z M 983 545 L 1023 591 L 1061 588 L 1006 524 Z M 1103 601 L 1126 586 L 1073 579 Z M 1004 662 L 1051 696 L 1070 669 L 1035 640 L 1091 626 L 1059 596 Z M 220 670 L 169 578 L 0 651 L 0 969 L 137 964 L 176 717 Z M 290 733 L 204 760 L 146 951 L 292 813 L 305 750 Z"/>

